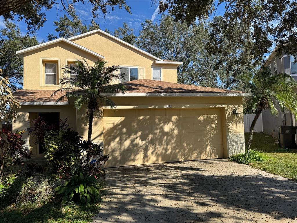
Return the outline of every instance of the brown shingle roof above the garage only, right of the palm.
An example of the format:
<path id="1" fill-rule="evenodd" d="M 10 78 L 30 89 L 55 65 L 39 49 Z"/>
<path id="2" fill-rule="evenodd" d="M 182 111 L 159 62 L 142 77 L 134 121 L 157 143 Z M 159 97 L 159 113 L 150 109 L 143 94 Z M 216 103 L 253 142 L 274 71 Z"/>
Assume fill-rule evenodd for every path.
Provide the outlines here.
<path id="1" fill-rule="evenodd" d="M 211 87 L 139 79 L 123 83 L 127 93 L 244 93 Z"/>

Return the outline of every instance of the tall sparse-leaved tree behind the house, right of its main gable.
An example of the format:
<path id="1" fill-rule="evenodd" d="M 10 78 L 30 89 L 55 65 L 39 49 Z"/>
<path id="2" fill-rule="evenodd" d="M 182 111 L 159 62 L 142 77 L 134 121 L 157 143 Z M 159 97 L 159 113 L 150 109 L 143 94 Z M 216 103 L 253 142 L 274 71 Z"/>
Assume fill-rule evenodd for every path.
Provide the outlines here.
<path id="1" fill-rule="evenodd" d="M 214 56 L 208 56 L 205 50 L 207 41 L 204 23 L 187 26 L 162 15 L 159 23 L 142 23 L 137 46 L 161 59 L 183 62 L 177 69 L 178 83 L 217 87 Z"/>

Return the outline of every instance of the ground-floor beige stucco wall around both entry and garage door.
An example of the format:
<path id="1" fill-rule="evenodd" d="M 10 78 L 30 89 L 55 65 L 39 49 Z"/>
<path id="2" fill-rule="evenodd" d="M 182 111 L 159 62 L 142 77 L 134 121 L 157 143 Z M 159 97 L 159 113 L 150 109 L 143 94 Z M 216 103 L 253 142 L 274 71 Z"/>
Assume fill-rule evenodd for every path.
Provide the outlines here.
<path id="1" fill-rule="evenodd" d="M 114 97 L 112 99 L 116 102 L 117 109 L 164 109 L 165 104 L 171 104 L 170 109 L 220 108 L 224 157 L 245 151 L 242 97 Z M 105 109 L 108 108 L 103 107 L 103 112 Z M 232 113 L 233 110 L 239 112 L 238 117 Z M 36 114 L 36 112 L 50 111 L 59 111 L 62 120 L 68 117 L 71 127 L 77 130 L 83 139 L 87 139 L 88 120 L 83 116 L 85 109 L 76 112 L 73 105 L 23 105 L 19 109 L 20 118 L 13 123 L 13 131 L 28 128 L 30 118 L 36 117 L 34 112 Z M 103 122 L 103 118 L 95 119 L 92 133 L 93 142 L 101 145 L 104 137 Z M 32 145 L 32 140 L 29 142 L 27 133 L 23 135 L 23 139 L 30 144 L 32 152 L 36 154 L 36 146 Z"/>

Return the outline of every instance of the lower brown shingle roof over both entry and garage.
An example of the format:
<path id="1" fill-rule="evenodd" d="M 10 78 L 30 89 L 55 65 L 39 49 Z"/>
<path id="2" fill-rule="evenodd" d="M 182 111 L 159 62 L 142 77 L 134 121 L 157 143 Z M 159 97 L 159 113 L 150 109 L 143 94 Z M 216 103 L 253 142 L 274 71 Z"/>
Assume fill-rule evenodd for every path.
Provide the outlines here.
<path id="1" fill-rule="evenodd" d="M 176 84 L 166 81 L 140 79 L 122 83 L 126 93 L 244 93 L 241 91 L 225 90 L 211 87 L 200 87 L 187 84 Z M 63 94 L 51 97 L 53 90 L 17 90 L 14 95 L 21 103 L 56 102 Z M 65 98 L 62 102 L 68 102 Z"/>

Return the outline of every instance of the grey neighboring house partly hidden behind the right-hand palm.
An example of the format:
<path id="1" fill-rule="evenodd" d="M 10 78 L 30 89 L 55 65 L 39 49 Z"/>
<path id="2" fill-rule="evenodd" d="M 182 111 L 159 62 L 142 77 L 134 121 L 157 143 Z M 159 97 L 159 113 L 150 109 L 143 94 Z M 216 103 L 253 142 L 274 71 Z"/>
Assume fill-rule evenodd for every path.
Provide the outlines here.
<path id="1" fill-rule="evenodd" d="M 287 73 L 297 81 L 297 63 L 294 63 L 294 58 L 285 53 L 281 57 L 276 56 L 276 48 L 268 56 L 264 67 L 268 67 L 271 70 L 271 74 Z M 297 89 L 295 90 L 297 91 Z M 266 110 L 262 112 L 262 118 L 263 132 L 272 135 L 273 131 L 275 131 L 275 136 L 278 137 L 278 125 L 296 126 L 297 122 L 294 119 L 294 115 L 289 111 L 282 111 L 278 106 L 277 109 L 279 111 L 277 116 L 271 115 L 270 110 Z"/>

